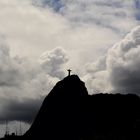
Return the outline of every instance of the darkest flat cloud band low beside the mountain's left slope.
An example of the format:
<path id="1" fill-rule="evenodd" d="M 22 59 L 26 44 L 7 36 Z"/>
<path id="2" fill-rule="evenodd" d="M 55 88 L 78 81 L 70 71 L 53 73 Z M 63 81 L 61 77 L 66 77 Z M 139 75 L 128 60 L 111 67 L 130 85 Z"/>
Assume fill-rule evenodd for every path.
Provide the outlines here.
<path id="1" fill-rule="evenodd" d="M 40 105 L 42 103 L 43 97 L 41 99 L 1 99 L 3 102 L 0 114 L 0 122 L 5 121 L 23 121 L 27 123 L 32 123 L 34 120 Z"/>

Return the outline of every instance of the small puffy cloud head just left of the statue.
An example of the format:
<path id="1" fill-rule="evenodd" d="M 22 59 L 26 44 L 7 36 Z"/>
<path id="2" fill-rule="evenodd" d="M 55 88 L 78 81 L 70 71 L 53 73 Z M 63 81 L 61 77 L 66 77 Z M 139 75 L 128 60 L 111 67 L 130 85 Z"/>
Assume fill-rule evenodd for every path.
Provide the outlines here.
<path id="1" fill-rule="evenodd" d="M 65 75 L 63 65 L 68 62 L 66 52 L 61 47 L 47 51 L 39 59 L 42 68 L 53 77 L 62 79 Z"/>

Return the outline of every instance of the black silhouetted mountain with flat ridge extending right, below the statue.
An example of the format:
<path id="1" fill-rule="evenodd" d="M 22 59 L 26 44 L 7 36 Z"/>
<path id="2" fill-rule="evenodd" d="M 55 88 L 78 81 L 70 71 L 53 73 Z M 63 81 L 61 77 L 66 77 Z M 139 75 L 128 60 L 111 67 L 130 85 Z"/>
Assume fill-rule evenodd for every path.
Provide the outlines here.
<path id="1" fill-rule="evenodd" d="M 67 76 L 45 98 L 30 129 L 15 139 L 139 140 L 140 98 L 88 95 L 77 75 Z"/>

